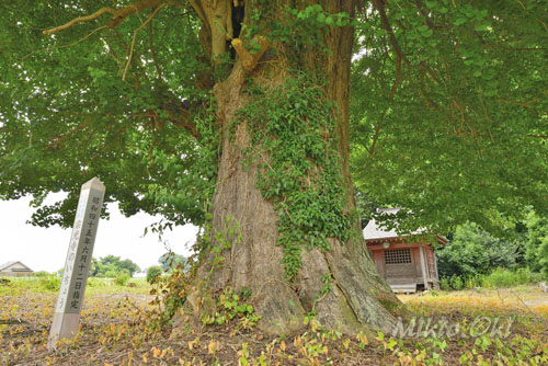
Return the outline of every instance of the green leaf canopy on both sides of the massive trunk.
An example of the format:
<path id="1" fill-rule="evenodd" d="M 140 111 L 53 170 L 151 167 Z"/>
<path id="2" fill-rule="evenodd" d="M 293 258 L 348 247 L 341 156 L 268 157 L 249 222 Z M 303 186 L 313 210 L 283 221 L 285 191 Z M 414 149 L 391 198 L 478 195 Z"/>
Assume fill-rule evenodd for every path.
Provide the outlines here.
<path id="1" fill-rule="evenodd" d="M 96 175 L 126 215 L 202 225 L 218 155 L 210 88 L 224 76 L 198 18 L 180 1 L 42 34 L 104 4 L 0 5 L 0 198 L 32 194 L 34 224 L 69 226 Z M 261 14 L 246 11 L 251 26 Z M 350 21 L 310 13 L 284 34 Z M 352 170 L 370 199 L 409 209 L 403 229 L 547 213 L 546 19 L 541 0 L 358 1 Z M 59 191 L 66 201 L 43 205 Z"/>

